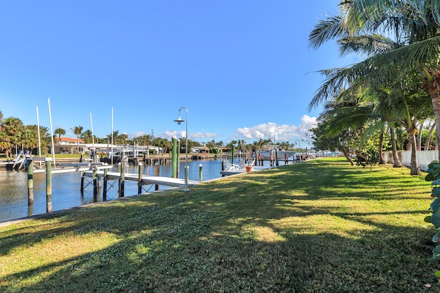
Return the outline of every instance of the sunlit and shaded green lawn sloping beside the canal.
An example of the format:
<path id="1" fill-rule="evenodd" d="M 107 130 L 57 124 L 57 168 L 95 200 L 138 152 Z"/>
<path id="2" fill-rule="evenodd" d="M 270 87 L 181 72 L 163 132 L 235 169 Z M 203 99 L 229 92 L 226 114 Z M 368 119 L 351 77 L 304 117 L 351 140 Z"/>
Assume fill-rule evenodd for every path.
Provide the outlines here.
<path id="1" fill-rule="evenodd" d="M 408 169 L 316 160 L 0 227 L 1 292 L 439 292 Z"/>

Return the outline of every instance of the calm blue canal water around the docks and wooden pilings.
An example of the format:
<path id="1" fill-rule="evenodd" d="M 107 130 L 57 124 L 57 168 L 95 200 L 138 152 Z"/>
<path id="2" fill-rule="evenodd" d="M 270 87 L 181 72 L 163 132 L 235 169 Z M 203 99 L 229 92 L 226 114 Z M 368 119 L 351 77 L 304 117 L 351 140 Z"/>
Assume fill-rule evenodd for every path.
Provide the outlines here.
<path id="1" fill-rule="evenodd" d="M 235 163 L 238 163 L 238 159 Z M 268 163 L 268 162 L 267 162 Z M 202 165 L 203 180 L 220 178 L 221 161 L 188 161 L 189 180 L 199 180 L 199 165 Z M 180 178 L 184 178 L 185 163 L 180 163 Z M 117 169 L 115 169 L 117 171 Z M 129 173 L 137 174 L 137 166 L 130 166 Z M 144 165 L 143 174 L 155 176 L 154 165 Z M 160 176 L 171 176 L 171 165 L 159 166 Z M 94 200 L 93 185 L 85 188 L 84 194 L 80 192 L 80 172 L 52 174 L 52 211 L 78 207 L 94 201 L 102 201 L 102 190 Z M 86 184 L 86 183 L 85 183 Z M 144 185 L 144 189 L 151 185 Z M 159 189 L 169 187 L 160 186 Z M 109 188 L 107 188 L 109 189 Z M 154 191 L 154 185 L 149 189 Z M 146 192 L 145 190 L 142 192 Z M 137 183 L 126 181 L 124 194 L 131 196 L 137 194 Z M 118 198 L 118 192 L 111 189 L 107 192 L 107 200 Z M 0 168 L 0 222 L 17 218 L 38 215 L 46 212 L 46 182 L 45 173 L 34 174 L 34 203 L 28 205 L 28 174 L 19 171 L 6 171 Z"/>

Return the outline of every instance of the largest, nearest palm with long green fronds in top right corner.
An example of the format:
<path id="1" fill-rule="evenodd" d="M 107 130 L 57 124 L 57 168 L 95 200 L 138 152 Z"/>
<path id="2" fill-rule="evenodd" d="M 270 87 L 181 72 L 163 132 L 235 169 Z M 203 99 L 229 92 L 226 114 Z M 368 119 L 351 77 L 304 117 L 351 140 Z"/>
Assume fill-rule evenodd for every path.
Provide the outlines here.
<path id="1" fill-rule="evenodd" d="M 389 80 L 403 84 L 410 78 L 430 95 L 436 127 L 440 125 L 440 11 L 437 1 L 342 0 L 340 14 L 320 21 L 309 36 L 311 47 L 335 38 L 382 32 L 397 38 L 399 47 L 380 51 L 344 69 L 327 71 L 327 84 L 314 99 L 319 102 L 334 86 L 369 78 L 375 84 Z M 379 70 L 380 69 L 380 70 Z M 436 131 L 440 141 L 440 131 Z M 439 149 L 440 157 L 440 149 Z"/>

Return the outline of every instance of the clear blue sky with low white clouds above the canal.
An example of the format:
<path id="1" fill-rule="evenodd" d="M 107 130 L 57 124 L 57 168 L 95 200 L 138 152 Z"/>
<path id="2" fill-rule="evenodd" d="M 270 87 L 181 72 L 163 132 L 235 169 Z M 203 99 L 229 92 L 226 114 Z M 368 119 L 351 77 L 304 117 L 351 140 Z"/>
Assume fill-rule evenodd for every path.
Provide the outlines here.
<path id="1" fill-rule="evenodd" d="M 0 110 L 41 126 L 83 126 L 105 137 L 295 143 L 320 108 L 323 78 L 349 65 L 334 43 L 309 49 L 336 0 L 2 1 Z M 186 119 L 184 110 L 182 119 Z M 272 134 L 273 139 L 273 134 Z"/>

